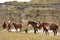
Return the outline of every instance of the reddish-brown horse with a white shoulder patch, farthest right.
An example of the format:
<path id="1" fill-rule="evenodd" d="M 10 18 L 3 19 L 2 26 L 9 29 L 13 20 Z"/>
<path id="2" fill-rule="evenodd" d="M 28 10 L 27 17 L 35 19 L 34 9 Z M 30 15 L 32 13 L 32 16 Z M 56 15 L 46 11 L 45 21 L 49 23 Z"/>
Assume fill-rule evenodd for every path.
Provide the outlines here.
<path id="1" fill-rule="evenodd" d="M 42 23 L 42 26 L 43 26 L 43 32 L 45 31 L 46 34 L 49 34 L 48 30 L 53 30 L 54 35 L 57 34 L 58 26 L 56 24 Z"/>

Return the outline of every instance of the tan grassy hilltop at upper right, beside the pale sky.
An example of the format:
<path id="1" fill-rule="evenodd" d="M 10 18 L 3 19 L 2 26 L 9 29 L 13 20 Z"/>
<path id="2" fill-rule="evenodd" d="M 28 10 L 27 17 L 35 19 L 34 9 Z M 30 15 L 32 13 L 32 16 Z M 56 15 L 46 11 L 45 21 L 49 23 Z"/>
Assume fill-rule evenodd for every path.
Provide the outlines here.
<path id="1" fill-rule="evenodd" d="M 33 4 L 54 4 L 54 3 L 60 3 L 60 0 L 32 0 L 31 3 Z"/>

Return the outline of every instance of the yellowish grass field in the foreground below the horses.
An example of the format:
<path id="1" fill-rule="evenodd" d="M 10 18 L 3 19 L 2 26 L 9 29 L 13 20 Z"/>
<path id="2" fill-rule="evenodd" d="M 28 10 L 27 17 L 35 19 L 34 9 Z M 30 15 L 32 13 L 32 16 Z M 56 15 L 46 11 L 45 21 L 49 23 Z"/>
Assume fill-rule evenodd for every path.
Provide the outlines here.
<path id="1" fill-rule="evenodd" d="M 20 32 L 0 32 L 0 40 L 60 40 L 60 36 Z"/>

